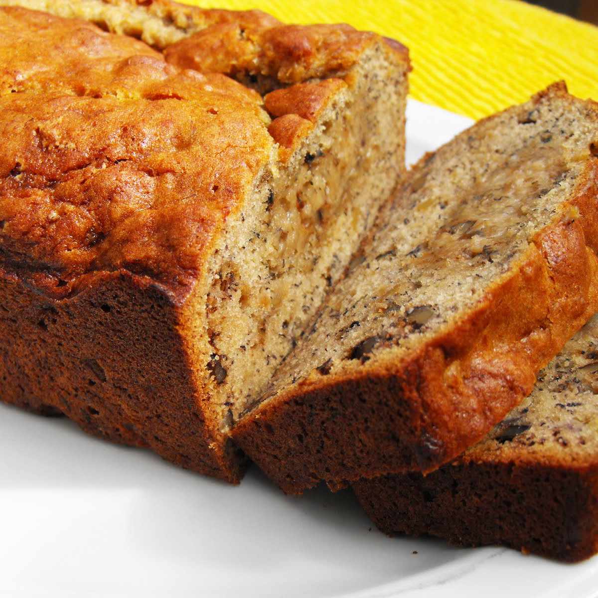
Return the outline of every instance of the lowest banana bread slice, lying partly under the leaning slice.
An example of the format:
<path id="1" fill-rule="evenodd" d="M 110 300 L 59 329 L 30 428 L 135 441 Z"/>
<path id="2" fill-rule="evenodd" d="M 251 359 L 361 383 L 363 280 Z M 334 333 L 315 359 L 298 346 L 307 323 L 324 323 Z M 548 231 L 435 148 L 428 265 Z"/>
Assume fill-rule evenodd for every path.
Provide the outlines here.
<path id="1" fill-rule="evenodd" d="M 423 477 L 353 484 L 377 526 L 576 561 L 598 552 L 598 316 L 484 440 Z"/>

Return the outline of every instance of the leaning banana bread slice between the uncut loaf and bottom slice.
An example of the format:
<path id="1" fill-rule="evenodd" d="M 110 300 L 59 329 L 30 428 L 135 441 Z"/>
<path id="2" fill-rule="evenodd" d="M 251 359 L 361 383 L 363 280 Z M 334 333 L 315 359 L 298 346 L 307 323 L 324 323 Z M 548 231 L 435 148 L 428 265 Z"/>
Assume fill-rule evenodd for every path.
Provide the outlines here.
<path id="1" fill-rule="evenodd" d="M 411 171 L 234 440 L 285 492 L 429 472 L 597 310 L 598 109 L 555 84 Z"/>

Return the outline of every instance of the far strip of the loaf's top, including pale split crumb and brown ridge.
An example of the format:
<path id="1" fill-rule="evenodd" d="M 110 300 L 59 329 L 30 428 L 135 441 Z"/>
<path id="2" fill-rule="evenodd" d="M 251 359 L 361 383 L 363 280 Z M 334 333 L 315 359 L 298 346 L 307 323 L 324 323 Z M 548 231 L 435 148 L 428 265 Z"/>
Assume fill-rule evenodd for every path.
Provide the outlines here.
<path id="1" fill-rule="evenodd" d="M 283 84 L 342 76 L 368 45 L 380 39 L 344 24 L 285 25 L 259 10 L 204 9 L 170 0 L 79 0 L 76 7 L 71 0 L 19 0 L 19 4 L 83 17 L 112 32 L 141 38 L 165 49 L 166 59 L 184 68 L 260 75 Z M 408 62 L 404 45 L 385 41 Z"/>

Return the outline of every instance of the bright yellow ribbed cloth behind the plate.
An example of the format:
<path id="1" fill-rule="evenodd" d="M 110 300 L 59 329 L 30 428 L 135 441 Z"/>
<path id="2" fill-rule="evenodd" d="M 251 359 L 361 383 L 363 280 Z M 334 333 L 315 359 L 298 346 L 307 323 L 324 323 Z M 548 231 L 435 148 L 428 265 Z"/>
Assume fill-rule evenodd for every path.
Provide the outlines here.
<path id="1" fill-rule="evenodd" d="M 553 81 L 598 100 L 598 28 L 518 0 L 185 0 L 287 23 L 350 23 L 410 50 L 411 95 L 480 118 Z M 598 1 L 598 0 L 596 0 Z"/>

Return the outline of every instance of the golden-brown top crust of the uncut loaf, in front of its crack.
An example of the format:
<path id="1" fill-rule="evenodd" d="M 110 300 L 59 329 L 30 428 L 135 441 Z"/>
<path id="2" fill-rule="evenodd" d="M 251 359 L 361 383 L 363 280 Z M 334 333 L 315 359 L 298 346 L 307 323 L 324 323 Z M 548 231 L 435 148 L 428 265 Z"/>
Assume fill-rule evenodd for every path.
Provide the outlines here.
<path id="1" fill-rule="evenodd" d="M 222 75 L 179 71 L 149 48 L 139 55 L 144 44 L 89 23 L 30 20 L 0 10 L 7 267 L 54 296 L 90 271 L 120 268 L 189 285 L 270 159 L 260 97 Z M 53 70 L 36 71 L 35 45 L 22 44 L 29 28 L 57 40 Z"/>

